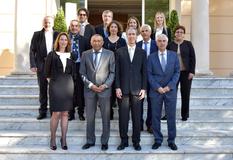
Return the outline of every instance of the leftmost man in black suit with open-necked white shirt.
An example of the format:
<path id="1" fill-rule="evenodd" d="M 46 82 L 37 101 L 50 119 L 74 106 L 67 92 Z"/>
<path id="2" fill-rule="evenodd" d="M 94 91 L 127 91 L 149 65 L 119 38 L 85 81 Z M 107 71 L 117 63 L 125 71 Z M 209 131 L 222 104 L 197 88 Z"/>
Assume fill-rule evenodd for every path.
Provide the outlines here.
<path id="1" fill-rule="evenodd" d="M 43 29 L 34 32 L 30 45 L 30 69 L 37 73 L 39 85 L 39 116 L 38 120 L 46 118 L 47 114 L 47 87 L 48 81 L 45 77 L 44 66 L 47 54 L 53 50 L 53 43 L 58 35 L 58 32 L 53 30 L 53 17 L 46 16 L 43 19 Z"/>

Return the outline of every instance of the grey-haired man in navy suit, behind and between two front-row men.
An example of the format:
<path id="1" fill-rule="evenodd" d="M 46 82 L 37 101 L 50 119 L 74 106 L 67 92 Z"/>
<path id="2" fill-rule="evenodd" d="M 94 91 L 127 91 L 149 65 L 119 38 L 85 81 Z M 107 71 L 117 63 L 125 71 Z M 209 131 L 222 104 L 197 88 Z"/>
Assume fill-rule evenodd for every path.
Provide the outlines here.
<path id="1" fill-rule="evenodd" d="M 142 49 L 144 49 L 146 51 L 146 55 L 147 57 L 156 52 L 158 50 L 158 47 L 156 45 L 156 42 L 154 40 L 152 40 L 150 38 L 151 35 L 151 27 L 148 24 L 144 24 L 142 25 L 142 27 L 140 28 L 140 32 L 142 35 L 143 40 L 137 43 L 137 47 L 140 47 Z M 146 118 L 146 126 L 147 126 L 147 131 L 149 133 L 152 133 L 152 122 L 151 122 L 151 102 L 150 102 L 150 97 L 149 95 L 149 85 L 147 85 L 147 118 Z M 144 124 L 144 120 L 143 120 L 143 101 L 144 99 L 142 99 L 142 104 L 141 104 L 141 131 L 143 131 L 143 124 Z"/>

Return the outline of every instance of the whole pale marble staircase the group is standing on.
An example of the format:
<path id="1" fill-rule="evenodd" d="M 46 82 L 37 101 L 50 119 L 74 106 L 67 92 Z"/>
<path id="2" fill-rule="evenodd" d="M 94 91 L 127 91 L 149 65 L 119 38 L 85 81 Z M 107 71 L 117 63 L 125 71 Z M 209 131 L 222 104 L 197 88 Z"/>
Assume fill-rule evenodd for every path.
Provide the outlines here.
<path id="1" fill-rule="evenodd" d="M 178 93 L 179 95 L 179 93 Z M 180 97 L 180 96 L 178 96 Z M 86 122 L 74 120 L 69 123 L 68 151 L 59 145 L 49 149 L 49 118 L 36 120 L 38 114 L 38 87 L 34 76 L 9 76 L 0 78 L 0 160 L 229 160 L 233 159 L 233 79 L 195 78 L 192 85 L 190 119 L 180 120 L 180 98 L 177 102 L 178 151 L 167 147 L 166 121 L 162 122 L 163 146 L 152 150 L 153 136 L 141 133 L 141 151 L 130 145 L 117 151 L 120 143 L 118 112 L 114 110 L 111 121 L 109 149 L 101 151 L 102 123 L 100 113 L 96 116 L 96 146 L 88 150 L 81 147 L 86 142 Z M 144 117 L 146 117 L 146 103 Z M 144 127 L 146 128 L 146 127 Z M 131 123 L 129 127 L 131 135 Z M 131 140 L 129 140 L 131 144 Z"/>

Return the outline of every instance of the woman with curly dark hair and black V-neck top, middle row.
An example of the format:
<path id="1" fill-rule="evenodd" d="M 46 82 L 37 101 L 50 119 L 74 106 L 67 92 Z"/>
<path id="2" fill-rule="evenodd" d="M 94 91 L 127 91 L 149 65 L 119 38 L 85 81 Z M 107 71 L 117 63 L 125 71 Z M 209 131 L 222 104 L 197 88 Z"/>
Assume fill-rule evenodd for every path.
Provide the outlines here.
<path id="1" fill-rule="evenodd" d="M 103 47 L 113 51 L 114 53 L 118 48 L 126 46 L 126 42 L 121 38 L 122 26 L 118 21 L 113 20 L 107 27 L 109 37 L 104 39 Z M 115 55 L 116 56 L 116 55 Z M 111 112 L 110 119 L 113 120 L 113 107 L 116 104 L 116 93 L 115 83 L 112 84 L 112 95 L 111 95 Z"/>

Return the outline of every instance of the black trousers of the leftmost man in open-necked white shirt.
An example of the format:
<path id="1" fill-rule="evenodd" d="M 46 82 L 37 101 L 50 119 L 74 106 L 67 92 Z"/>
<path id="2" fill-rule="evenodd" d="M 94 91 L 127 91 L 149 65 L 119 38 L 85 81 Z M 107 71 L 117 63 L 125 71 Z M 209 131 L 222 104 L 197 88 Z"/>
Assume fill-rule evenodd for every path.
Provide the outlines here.
<path id="1" fill-rule="evenodd" d="M 37 72 L 37 80 L 39 85 L 39 102 L 40 102 L 40 108 L 39 113 L 40 114 L 46 114 L 47 112 L 47 105 L 48 105 L 48 81 L 45 77 L 44 72 Z"/>

